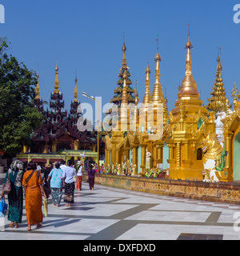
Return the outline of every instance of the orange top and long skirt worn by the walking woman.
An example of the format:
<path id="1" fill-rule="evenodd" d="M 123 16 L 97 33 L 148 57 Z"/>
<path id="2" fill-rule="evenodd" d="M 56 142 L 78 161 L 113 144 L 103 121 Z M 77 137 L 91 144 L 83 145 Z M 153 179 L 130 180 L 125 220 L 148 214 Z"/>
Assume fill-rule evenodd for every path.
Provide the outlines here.
<path id="1" fill-rule="evenodd" d="M 41 174 L 34 172 L 30 180 L 26 184 L 26 178 L 31 174 L 32 170 L 26 171 L 23 175 L 22 185 L 26 186 L 25 196 L 25 209 L 26 219 L 29 225 L 35 225 L 41 223 L 43 219 L 42 215 L 42 192 L 39 184 L 42 184 Z"/>

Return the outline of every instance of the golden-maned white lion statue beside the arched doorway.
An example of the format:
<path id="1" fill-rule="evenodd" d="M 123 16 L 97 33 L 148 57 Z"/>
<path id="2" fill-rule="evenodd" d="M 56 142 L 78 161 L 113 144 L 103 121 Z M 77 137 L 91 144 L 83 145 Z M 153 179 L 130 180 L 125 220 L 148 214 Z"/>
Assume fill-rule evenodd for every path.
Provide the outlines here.
<path id="1" fill-rule="evenodd" d="M 217 136 L 210 133 L 202 141 L 202 152 L 204 175 L 203 182 L 218 182 L 218 175 L 221 176 L 223 167 L 225 166 L 225 150 L 222 148 Z"/>

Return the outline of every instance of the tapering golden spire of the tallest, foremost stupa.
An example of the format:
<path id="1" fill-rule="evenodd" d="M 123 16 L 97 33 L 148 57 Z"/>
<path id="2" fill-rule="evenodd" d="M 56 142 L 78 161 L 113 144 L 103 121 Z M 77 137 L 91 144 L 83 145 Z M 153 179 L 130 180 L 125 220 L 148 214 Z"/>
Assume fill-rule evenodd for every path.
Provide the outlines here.
<path id="1" fill-rule="evenodd" d="M 186 71 L 185 78 L 183 78 L 180 90 L 178 91 L 178 99 L 182 97 L 199 98 L 197 83 L 193 78 L 191 49 L 193 48 L 190 42 L 190 32 L 188 33 L 188 40 L 186 42 Z"/>

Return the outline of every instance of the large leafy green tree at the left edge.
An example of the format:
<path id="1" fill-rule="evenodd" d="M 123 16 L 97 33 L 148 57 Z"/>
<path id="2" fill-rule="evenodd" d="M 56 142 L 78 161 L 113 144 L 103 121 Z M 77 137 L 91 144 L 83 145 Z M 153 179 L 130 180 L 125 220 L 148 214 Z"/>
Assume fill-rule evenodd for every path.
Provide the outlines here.
<path id="1" fill-rule="evenodd" d="M 34 107 L 36 72 L 8 53 L 9 42 L 0 38 L 0 149 L 14 156 L 30 134 L 42 124 L 42 114 Z"/>

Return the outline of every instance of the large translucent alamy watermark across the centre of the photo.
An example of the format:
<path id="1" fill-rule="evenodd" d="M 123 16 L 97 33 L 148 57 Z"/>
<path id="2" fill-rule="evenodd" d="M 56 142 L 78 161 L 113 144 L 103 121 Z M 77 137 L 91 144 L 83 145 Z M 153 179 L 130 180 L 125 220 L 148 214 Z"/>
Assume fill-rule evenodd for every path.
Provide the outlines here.
<path id="1" fill-rule="evenodd" d="M 95 130 L 112 131 L 139 131 L 146 133 L 150 140 L 158 140 L 163 134 L 163 104 L 148 103 L 143 105 L 138 103 L 122 103 L 117 106 L 114 103 L 106 103 L 102 106 L 102 98 L 96 97 L 95 102 Z M 89 103 L 78 105 L 78 113 L 82 115 L 78 118 L 77 127 L 80 131 L 93 131 L 94 110 Z M 102 120 L 102 114 L 105 117 Z"/>

